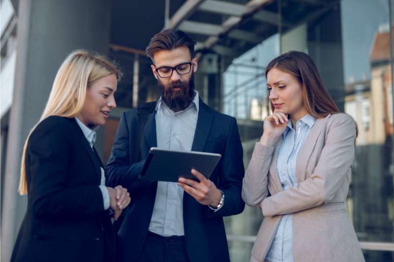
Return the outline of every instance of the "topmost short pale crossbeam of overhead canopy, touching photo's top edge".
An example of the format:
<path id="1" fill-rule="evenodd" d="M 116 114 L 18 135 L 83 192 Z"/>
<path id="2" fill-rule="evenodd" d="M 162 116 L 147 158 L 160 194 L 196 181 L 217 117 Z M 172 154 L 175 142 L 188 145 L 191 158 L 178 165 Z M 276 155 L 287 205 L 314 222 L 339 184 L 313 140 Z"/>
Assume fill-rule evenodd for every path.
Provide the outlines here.
<path id="1" fill-rule="evenodd" d="M 204 12 L 233 16 L 242 16 L 245 13 L 245 5 L 218 0 L 207 0 L 198 9 Z"/>

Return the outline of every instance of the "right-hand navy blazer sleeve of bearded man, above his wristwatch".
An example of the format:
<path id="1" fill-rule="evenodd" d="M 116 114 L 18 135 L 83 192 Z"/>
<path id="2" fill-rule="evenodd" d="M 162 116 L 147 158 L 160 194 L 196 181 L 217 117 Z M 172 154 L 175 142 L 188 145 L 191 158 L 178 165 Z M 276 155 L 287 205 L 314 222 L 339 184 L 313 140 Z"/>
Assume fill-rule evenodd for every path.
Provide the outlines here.
<path id="1" fill-rule="evenodd" d="M 208 217 L 236 215 L 241 213 L 245 208 L 245 203 L 241 197 L 242 178 L 245 173 L 242 157 L 243 150 L 234 117 L 231 119 L 230 131 L 223 152 L 218 188 L 223 191 L 225 202 L 216 212 L 206 206 Z"/>

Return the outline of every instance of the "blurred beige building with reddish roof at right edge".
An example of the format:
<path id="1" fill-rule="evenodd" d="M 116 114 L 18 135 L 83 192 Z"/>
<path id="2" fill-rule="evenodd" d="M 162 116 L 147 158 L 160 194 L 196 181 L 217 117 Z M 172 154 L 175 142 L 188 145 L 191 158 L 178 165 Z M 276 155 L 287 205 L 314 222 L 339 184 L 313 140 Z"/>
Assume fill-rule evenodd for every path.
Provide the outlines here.
<path id="1" fill-rule="evenodd" d="M 379 30 L 370 53 L 371 80 L 346 86 L 345 112 L 359 127 L 357 144 L 385 144 L 393 135 L 390 34 Z"/>

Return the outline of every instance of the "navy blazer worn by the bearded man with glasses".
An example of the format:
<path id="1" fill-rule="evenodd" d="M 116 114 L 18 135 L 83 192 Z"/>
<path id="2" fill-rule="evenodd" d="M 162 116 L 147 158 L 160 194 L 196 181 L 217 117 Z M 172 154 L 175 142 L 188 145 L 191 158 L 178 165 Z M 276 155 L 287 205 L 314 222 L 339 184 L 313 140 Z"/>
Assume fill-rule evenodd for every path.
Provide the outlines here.
<path id="1" fill-rule="evenodd" d="M 141 139 L 140 156 L 146 159 L 149 148 L 157 146 L 156 121 L 149 114 Z M 137 132 L 138 112 L 123 113 L 106 166 L 110 185 L 120 184 L 131 193 L 131 205 L 118 232 L 117 261 L 134 262 L 139 256 L 152 217 L 157 182 L 139 180 L 145 160 L 132 163 L 131 138 Z M 224 216 L 244 209 L 241 198 L 244 166 L 242 146 L 234 117 L 220 114 L 199 100 L 196 133 L 192 150 L 222 154 L 210 179 L 225 194 L 225 204 L 217 212 L 199 204 L 189 194 L 183 197 L 183 221 L 186 248 L 191 262 L 230 261 Z"/>

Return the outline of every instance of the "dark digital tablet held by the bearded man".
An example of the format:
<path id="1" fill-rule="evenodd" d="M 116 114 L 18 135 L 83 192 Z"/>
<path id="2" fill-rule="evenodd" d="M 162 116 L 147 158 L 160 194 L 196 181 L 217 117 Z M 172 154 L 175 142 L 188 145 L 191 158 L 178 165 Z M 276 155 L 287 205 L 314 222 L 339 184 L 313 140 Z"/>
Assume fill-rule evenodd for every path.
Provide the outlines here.
<path id="1" fill-rule="evenodd" d="M 178 182 L 179 177 L 197 180 L 191 170 L 195 169 L 206 178 L 212 174 L 221 154 L 166 150 L 152 147 L 142 168 L 141 179 Z"/>

